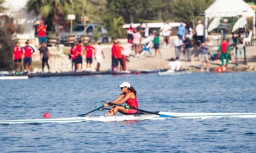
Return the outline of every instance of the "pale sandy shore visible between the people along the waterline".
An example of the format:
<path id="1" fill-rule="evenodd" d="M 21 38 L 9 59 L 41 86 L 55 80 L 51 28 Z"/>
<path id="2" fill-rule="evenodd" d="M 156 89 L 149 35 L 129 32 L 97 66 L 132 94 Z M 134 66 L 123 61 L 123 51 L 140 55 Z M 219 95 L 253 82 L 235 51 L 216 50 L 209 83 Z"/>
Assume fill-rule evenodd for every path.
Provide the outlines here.
<path id="1" fill-rule="evenodd" d="M 151 48 L 151 53 L 146 52 L 143 56 L 140 56 L 140 58 L 134 58 L 135 51 L 133 50 L 130 54 L 130 59 L 128 63 L 128 70 L 159 70 L 159 69 L 166 69 L 167 64 L 170 60 L 170 58 L 175 58 L 175 48 L 174 48 L 174 39 L 175 37 L 170 38 L 170 42 L 172 43 L 170 48 L 163 48 L 163 45 L 160 45 L 161 47 L 161 53 L 162 58 L 154 58 L 154 49 Z M 126 40 L 122 39 L 120 40 L 122 42 L 122 45 L 125 45 Z M 162 42 L 162 40 L 161 40 Z M 104 45 L 104 54 L 105 59 L 103 59 L 103 63 L 100 66 L 101 71 L 108 71 L 111 69 L 111 46 L 112 44 Z M 66 49 L 69 49 L 70 47 L 65 47 Z M 228 69 L 230 71 L 244 71 L 244 70 L 255 70 L 256 67 L 256 47 L 247 47 L 248 53 L 247 53 L 247 65 L 244 65 L 244 59 L 239 59 L 238 66 L 235 65 L 235 62 L 233 60 L 230 61 L 228 64 Z M 62 51 L 59 51 L 58 48 L 49 48 L 50 53 L 52 54 L 49 64 L 51 68 L 51 72 L 70 72 L 71 71 L 71 62 L 70 59 L 68 59 L 68 56 Z M 194 50 L 194 48 L 192 48 Z M 194 51 L 193 51 L 194 52 Z M 182 59 L 183 56 L 181 56 Z M 234 59 L 234 56 L 232 56 L 232 59 Z M 197 57 L 194 57 L 194 54 L 192 54 L 191 62 L 183 61 L 183 68 L 187 69 L 188 67 L 201 67 L 201 61 Z M 34 68 L 38 68 L 37 72 L 41 72 L 41 61 L 39 59 L 39 53 L 36 53 L 33 55 L 33 65 Z M 95 71 L 97 65 L 97 61 L 94 59 L 92 64 L 92 71 Z M 209 67 L 210 70 L 214 70 L 217 67 L 221 66 L 221 61 L 210 61 Z M 47 70 L 47 68 L 45 67 Z M 86 62 L 83 63 L 83 70 L 86 70 Z M 199 69 L 196 69 L 194 71 L 199 71 Z"/>

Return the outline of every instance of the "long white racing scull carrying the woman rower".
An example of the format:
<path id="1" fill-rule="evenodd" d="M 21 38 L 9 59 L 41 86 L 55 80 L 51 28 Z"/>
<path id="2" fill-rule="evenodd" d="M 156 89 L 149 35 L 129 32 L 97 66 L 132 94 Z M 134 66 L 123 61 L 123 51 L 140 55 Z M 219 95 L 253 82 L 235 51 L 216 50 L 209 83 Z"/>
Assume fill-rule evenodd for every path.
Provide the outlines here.
<path id="1" fill-rule="evenodd" d="M 55 119 L 24 119 L 24 120 L 6 120 L 0 121 L 0 124 L 30 124 L 30 123 L 71 123 L 83 121 L 101 121 L 101 122 L 118 122 L 118 121 L 142 121 L 146 119 L 207 119 L 207 118 L 256 118 L 256 113 L 170 113 L 159 111 L 159 114 L 130 114 L 115 116 L 82 116 L 74 118 L 55 118 Z"/>

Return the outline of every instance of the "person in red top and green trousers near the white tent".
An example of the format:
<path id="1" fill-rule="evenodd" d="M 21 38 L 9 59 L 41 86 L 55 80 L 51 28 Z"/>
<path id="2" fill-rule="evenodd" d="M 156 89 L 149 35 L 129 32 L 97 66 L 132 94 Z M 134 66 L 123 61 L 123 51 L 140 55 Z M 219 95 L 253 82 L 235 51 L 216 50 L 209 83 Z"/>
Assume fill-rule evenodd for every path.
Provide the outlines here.
<path id="1" fill-rule="evenodd" d="M 220 44 L 220 59 L 222 60 L 222 66 L 228 66 L 228 55 L 230 54 L 230 44 L 226 42 L 226 39 L 222 40 L 222 43 Z M 224 59 L 226 59 L 226 64 L 224 63 Z"/>

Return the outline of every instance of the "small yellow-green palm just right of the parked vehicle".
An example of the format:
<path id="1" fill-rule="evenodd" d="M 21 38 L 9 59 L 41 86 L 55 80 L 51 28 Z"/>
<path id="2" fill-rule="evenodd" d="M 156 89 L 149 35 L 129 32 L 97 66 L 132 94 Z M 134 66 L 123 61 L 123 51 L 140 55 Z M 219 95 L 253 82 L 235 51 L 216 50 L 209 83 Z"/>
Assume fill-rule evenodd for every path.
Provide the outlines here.
<path id="1" fill-rule="evenodd" d="M 124 28 L 122 28 L 123 25 L 124 25 L 124 18 L 122 17 L 114 18 L 114 20 L 110 22 L 109 28 L 110 28 L 110 35 L 112 40 L 117 39 L 118 37 L 121 37 L 122 35 L 124 35 L 125 31 L 124 31 Z"/>

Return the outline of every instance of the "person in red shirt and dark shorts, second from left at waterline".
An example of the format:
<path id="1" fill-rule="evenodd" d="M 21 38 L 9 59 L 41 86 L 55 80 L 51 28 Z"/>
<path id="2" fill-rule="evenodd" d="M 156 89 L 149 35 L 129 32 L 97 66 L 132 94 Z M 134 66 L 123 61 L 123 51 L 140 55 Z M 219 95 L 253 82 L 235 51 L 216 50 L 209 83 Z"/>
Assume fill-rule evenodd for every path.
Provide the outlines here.
<path id="1" fill-rule="evenodd" d="M 23 59 L 24 67 L 26 67 L 26 70 L 28 74 L 30 74 L 30 65 L 32 63 L 32 54 L 34 53 L 34 48 L 30 47 L 30 44 L 28 42 L 25 43 L 26 46 L 22 48 L 25 58 Z"/>

